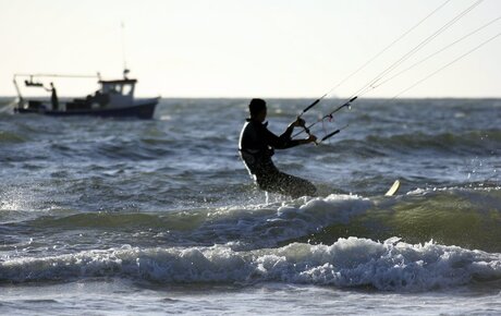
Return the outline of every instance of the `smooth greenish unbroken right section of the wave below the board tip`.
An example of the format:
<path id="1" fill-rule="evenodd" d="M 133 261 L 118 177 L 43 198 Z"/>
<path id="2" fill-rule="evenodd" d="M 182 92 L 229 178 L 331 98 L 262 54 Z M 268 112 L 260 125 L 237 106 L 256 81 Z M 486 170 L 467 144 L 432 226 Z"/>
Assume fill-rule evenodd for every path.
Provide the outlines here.
<path id="1" fill-rule="evenodd" d="M 347 223 L 328 223 L 318 232 L 298 239 L 330 243 L 340 236 L 406 242 L 436 240 L 488 252 L 501 252 L 501 190 L 451 187 L 418 190 L 390 199 L 376 199 L 374 207 Z"/>

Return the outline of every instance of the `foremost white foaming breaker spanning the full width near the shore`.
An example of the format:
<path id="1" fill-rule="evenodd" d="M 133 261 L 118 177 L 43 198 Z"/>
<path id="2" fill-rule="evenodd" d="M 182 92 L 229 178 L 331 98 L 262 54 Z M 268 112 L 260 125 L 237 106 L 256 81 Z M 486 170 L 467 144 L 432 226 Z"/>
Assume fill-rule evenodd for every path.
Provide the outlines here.
<path id="1" fill-rule="evenodd" d="M 2 282 L 131 278 L 159 283 L 308 283 L 428 291 L 501 279 L 501 255 L 398 239 L 339 239 L 332 245 L 293 243 L 279 248 L 111 248 L 0 262 Z"/>

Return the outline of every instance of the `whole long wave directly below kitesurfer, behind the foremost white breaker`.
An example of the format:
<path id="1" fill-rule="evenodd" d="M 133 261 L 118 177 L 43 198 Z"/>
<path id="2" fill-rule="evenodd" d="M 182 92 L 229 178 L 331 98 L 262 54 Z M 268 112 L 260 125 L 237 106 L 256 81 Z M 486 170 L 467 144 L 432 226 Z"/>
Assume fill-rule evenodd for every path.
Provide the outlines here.
<path id="1" fill-rule="evenodd" d="M 394 197 L 332 194 L 262 205 L 161 212 L 76 212 L 41 216 L 11 227 L 56 231 L 145 231 L 170 245 L 234 242 L 234 250 L 330 244 L 339 238 L 402 238 L 410 243 L 435 240 L 501 252 L 499 187 L 417 190 Z"/>

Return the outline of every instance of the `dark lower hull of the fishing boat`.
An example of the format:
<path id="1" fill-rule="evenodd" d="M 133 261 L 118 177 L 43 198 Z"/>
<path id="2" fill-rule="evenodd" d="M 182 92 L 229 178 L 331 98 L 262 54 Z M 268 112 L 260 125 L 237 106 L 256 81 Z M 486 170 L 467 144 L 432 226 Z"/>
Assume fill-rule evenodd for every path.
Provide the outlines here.
<path id="1" fill-rule="evenodd" d="M 86 109 L 86 110 L 68 110 L 68 111 L 53 111 L 46 109 L 30 109 L 30 108 L 15 108 L 17 113 L 37 113 L 51 117 L 75 117 L 75 116 L 89 116 L 100 118 L 136 118 L 143 120 L 150 120 L 154 117 L 155 108 L 158 104 L 158 98 L 151 99 L 131 107 L 121 108 L 105 108 L 105 109 Z"/>

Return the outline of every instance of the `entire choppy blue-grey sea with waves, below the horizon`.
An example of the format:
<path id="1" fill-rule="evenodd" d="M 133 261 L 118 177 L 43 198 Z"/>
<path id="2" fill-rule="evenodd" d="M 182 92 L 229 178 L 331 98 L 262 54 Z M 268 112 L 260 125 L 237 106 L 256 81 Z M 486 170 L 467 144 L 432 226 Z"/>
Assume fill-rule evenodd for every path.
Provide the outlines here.
<path id="1" fill-rule="evenodd" d="M 311 101 L 267 99 L 268 127 Z M 152 120 L 0 102 L 1 315 L 501 314 L 501 99 L 318 122 L 344 102 L 325 99 L 313 133 L 349 126 L 273 156 L 318 187 L 296 199 L 240 160 L 249 98 L 161 99 Z"/>

